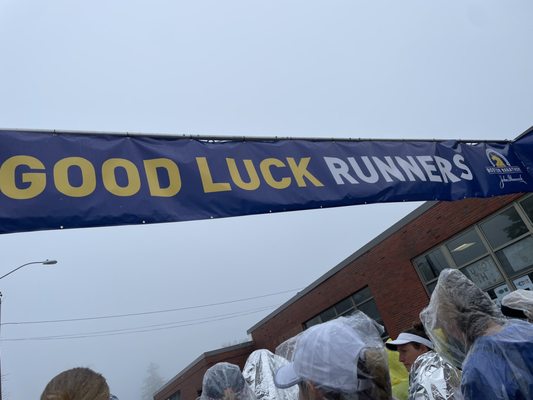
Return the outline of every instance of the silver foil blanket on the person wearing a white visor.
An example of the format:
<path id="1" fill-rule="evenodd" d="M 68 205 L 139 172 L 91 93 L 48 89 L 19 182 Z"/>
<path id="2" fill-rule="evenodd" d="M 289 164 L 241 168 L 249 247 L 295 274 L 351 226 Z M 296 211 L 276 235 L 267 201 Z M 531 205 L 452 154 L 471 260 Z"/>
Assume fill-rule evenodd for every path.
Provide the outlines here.
<path id="1" fill-rule="evenodd" d="M 461 374 L 434 351 L 417 357 L 409 373 L 409 400 L 460 400 Z"/>

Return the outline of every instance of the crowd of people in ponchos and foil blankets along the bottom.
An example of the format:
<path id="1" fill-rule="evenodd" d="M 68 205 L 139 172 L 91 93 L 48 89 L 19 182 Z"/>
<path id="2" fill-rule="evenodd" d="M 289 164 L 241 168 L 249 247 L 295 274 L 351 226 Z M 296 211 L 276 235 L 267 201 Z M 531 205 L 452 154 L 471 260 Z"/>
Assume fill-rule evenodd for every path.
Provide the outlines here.
<path id="1" fill-rule="evenodd" d="M 500 307 L 445 269 L 420 321 L 395 340 L 384 343 L 383 327 L 358 311 L 303 331 L 276 353 L 253 352 L 242 371 L 213 365 L 197 400 L 533 399 L 532 319 L 533 293 L 513 292 Z M 395 360 L 408 379 L 398 377 Z M 62 372 L 41 395 L 109 399 L 116 397 L 105 379 L 88 368 Z"/>

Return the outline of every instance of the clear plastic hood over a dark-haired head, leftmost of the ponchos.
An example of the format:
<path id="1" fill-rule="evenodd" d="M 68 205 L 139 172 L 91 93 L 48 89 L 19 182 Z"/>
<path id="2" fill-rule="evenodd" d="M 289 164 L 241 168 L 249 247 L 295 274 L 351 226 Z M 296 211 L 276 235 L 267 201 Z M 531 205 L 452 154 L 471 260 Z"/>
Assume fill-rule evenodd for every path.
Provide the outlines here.
<path id="1" fill-rule="evenodd" d="M 209 368 L 204 375 L 201 400 L 256 400 L 235 364 L 221 362 Z"/>

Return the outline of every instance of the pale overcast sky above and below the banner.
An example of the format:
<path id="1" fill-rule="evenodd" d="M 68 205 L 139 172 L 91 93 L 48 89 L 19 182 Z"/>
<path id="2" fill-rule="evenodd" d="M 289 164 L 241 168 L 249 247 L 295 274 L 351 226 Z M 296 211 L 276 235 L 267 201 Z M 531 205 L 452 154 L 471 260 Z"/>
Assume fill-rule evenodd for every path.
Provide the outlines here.
<path id="1" fill-rule="evenodd" d="M 0 0 L 0 127 L 513 139 L 533 125 L 532 12 L 526 0 Z M 137 400 L 150 362 L 169 379 L 245 339 L 418 205 L 2 235 L 0 274 L 59 261 L 0 282 L 4 399 L 88 366 Z M 70 334 L 83 337 L 35 339 Z"/>

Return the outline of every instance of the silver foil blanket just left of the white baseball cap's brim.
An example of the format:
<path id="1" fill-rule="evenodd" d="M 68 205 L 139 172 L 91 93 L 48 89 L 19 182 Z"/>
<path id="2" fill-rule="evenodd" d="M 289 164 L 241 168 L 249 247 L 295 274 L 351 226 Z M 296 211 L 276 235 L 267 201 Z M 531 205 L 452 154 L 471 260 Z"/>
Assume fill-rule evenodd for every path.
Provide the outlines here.
<path id="1" fill-rule="evenodd" d="M 274 374 L 288 361 L 269 350 L 256 350 L 246 360 L 242 374 L 258 400 L 298 400 L 298 386 L 278 389 Z"/>

